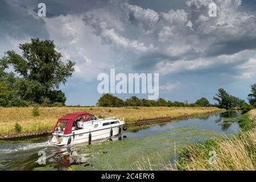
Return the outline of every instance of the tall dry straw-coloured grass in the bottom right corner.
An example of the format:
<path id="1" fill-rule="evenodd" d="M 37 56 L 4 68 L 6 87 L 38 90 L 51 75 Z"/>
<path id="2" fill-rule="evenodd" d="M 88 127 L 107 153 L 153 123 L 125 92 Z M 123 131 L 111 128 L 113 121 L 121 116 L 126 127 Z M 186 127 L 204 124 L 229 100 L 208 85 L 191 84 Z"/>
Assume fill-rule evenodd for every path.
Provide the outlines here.
<path id="1" fill-rule="evenodd" d="M 255 170 L 256 130 L 244 132 L 240 137 L 217 140 L 214 146 L 190 148 L 187 162 L 178 163 L 183 170 Z M 199 150 L 200 148 L 200 150 Z M 216 151 L 217 163 L 210 164 L 210 151 Z M 188 160 L 189 159 L 189 160 Z"/>

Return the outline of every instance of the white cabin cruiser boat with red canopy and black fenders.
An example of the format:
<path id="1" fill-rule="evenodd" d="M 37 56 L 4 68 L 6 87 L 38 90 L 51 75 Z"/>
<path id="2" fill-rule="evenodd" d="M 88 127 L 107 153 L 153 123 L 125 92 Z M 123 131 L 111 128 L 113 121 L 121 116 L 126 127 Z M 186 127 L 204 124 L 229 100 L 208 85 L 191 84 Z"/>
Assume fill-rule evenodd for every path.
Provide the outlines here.
<path id="1" fill-rule="evenodd" d="M 116 118 L 98 119 L 94 114 L 76 112 L 59 118 L 52 131 L 51 144 L 66 146 L 91 142 L 121 134 L 125 122 Z"/>

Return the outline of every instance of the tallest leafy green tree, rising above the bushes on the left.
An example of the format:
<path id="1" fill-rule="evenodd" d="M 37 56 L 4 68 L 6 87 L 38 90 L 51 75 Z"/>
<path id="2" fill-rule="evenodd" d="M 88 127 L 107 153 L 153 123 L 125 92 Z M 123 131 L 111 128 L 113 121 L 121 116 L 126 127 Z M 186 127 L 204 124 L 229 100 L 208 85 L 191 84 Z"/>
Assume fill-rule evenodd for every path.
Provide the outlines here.
<path id="1" fill-rule="evenodd" d="M 7 51 L 0 62 L 0 75 L 6 77 L 5 81 L 8 80 L 7 78 L 9 82 L 14 81 L 11 80 L 11 75 L 6 76 L 8 73 L 4 72 L 9 65 L 18 74 L 18 78 L 10 82 L 10 86 L 16 88 L 14 95 L 39 104 L 44 98 L 49 98 L 51 102 L 56 100 L 65 102 L 64 94 L 57 89 L 72 76 L 75 63 L 71 60 L 64 63 L 61 60 L 61 53 L 56 51 L 52 40 L 31 39 L 30 43 L 20 44 L 19 48 L 22 55 Z M 61 100 L 60 95 L 63 98 Z"/>

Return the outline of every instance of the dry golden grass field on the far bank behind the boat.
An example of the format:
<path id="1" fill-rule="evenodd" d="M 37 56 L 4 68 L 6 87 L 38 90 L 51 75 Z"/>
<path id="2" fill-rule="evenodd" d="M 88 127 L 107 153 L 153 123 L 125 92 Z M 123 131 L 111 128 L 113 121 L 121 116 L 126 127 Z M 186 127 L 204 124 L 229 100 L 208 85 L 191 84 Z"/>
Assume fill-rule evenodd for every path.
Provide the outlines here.
<path id="1" fill-rule="evenodd" d="M 102 109 L 105 113 L 102 114 Z M 58 118 L 74 111 L 88 111 L 101 117 L 125 118 L 126 122 L 157 117 L 180 117 L 222 111 L 216 107 L 39 107 L 39 116 L 32 115 L 33 107 L 0 107 L 0 134 L 15 133 L 15 123 L 21 132 L 51 130 Z"/>

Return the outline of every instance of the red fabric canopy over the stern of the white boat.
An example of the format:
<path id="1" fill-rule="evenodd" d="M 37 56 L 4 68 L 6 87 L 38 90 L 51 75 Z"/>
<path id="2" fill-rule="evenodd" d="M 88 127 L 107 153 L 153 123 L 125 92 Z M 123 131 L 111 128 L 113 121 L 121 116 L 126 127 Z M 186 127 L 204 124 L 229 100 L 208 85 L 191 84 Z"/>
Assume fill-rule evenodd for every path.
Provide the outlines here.
<path id="1" fill-rule="evenodd" d="M 78 118 L 82 117 L 84 121 L 88 121 L 89 118 L 92 118 L 94 115 L 87 113 L 87 112 L 75 112 L 75 113 L 69 113 L 66 115 L 63 115 L 63 117 L 59 118 L 57 123 L 55 124 L 52 132 L 55 131 L 55 128 L 59 124 L 60 121 L 68 121 L 67 125 L 65 126 L 64 134 L 71 134 L 72 133 L 72 127 L 73 127 L 73 121 Z"/>

